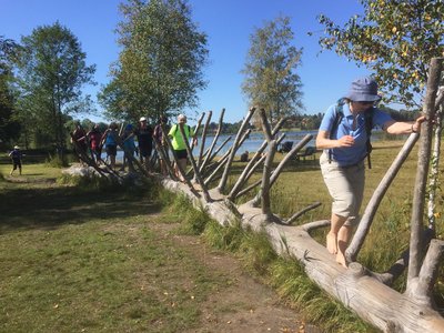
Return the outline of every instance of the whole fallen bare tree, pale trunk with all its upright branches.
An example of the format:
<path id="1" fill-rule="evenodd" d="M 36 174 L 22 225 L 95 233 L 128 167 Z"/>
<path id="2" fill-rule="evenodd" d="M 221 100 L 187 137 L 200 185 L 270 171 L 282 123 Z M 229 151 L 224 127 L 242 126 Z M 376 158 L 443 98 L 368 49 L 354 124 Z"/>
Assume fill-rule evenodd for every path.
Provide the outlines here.
<path id="1" fill-rule="evenodd" d="M 427 119 L 433 119 L 435 110 L 441 108 L 443 103 L 443 98 L 437 89 L 442 72 L 443 59 L 433 59 L 423 109 Z M 254 112 L 260 112 L 265 140 L 256 154 L 245 165 L 232 189 L 228 189 L 228 176 L 232 162 L 236 151 L 250 133 L 248 125 Z M 210 117 L 211 112 L 205 122 L 205 128 L 209 124 Z M 222 118 L 223 112 L 216 137 L 220 134 Z M 313 203 L 286 221 L 273 214 L 271 210 L 271 186 L 275 183 L 285 163 L 312 139 L 311 135 L 302 139 L 273 170 L 278 144 L 283 139 L 283 135 L 279 134 L 281 125 L 282 122 L 271 129 L 264 110 L 252 108 L 244 118 L 232 147 L 218 161 L 212 162 L 215 159 L 215 153 L 212 153 L 212 151 L 215 149 L 218 138 L 214 138 L 211 148 L 205 153 L 203 147 L 201 148 L 196 161 L 194 161 L 191 148 L 188 145 L 192 171 L 180 170 L 185 182 L 178 182 L 165 176 L 161 178 L 161 182 L 167 189 L 181 192 L 190 198 L 196 208 L 205 210 L 212 219 L 222 225 L 241 221 L 243 226 L 250 228 L 253 232 L 265 231 L 278 253 L 300 261 L 304 265 L 306 274 L 320 287 L 383 332 L 444 332 L 444 319 L 433 307 L 432 302 L 432 290 L 442 261 L 444 242 L 434 239 L 433 232 L 426 232 L 423 225 L 425 182 L 428 174 L 434 123 L 432 121 L 423 123 L 421 135 L 411 134 L 371 198 L 359 229 L 346 250 L 346 258 L 350 262 L 347 269 L 337 264 L 335 256 L 330 254 L 325 246 L 316 242 L 310 234 L 315 229 L 330 226 L 330 221 L 314 221 L 299 226 L 292 225 L 295 219 L 304 212 L 315 209 L 320 203 Z M 202 135 L 206 135 L 205 128 Z M 186 141 L 183 129 L 180 130 L 184 141 Z M 203 137 L 201 142 L 204 141 L 205 138 Z M 400 254 L 400 260 L 387 272 L 372 272 L 356 262 L 356 258 L 365 242 L 383 195 L 417 141 L 420 142 L 418 168 L 414 189 L 410 249 Z M 171 148 L 169 140 L 167 140 L 167 143 Z M 157 144 L 157 149 L 161 150 L 162 147 Z M 160 152 L 160 154 L 165 155 L 167 153 Z M 176 162 L 174 154 L 173 160 Z M 262 167 L 263 170 L 261 181 L 245 188 L 253 171 L 259 167 Z M 169 167 L 169 170 L 172 170 L 172 165 Z M 193 181 L 191 174 L 193 174 Z M 215 183 L 218 179 L 219 183 Z M 214 188 L 211 189 L 211 185 Z M 236 205 L 235 199 L 254 185 L 261 185 L 254 199 Z M 403 272 L 407 264 L 407 287 L 404 293 L 400 293 L 390 287 L 390 284 Z"/>

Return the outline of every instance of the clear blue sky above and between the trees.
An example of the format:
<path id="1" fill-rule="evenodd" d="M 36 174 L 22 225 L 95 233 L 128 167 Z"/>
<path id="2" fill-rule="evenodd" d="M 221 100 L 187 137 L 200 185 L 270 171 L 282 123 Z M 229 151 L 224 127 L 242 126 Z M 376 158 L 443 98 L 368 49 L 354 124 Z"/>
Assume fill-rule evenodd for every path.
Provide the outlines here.
<path id="1" fill-rule="evenodd" d="M 95 87 L 84 87 L 95 100 L 100 87 L 110 81 L 110 64 L 118 60 L 115 28 L 122 20 L 121 0 L 0 0 L 0 36 L 20 41 L 41 26 L 59 21 L 79 39 L 87 53 L 87 64 L 95 64 Z M 297 69 L 303 84 L 302 113 L 325 112 L 329 105 L 343 97 L 351 81 L 371 74 L 333 51 L 321 52 L 319 38 L 321 13 L 335 23 L 344 23 L 354 14 L 362 14 L 359 0 L 189 0 L 193 21 L 208 36 L 209 63 L 203 69 L 208 81 L 205 90 L 198 93 L 199 108 L 188 110 L 195 114 L 213 111 L 213 120 L 225 109 L 225 122 L 242 120 L 249 102 L 241 84 L 250 37 L 255 29 L 279 16 L 291 18 L 295 34 L 293 44 L 303 49 L 302 65 Z M 314 32 L 309 36 L 307 32 Z M 93 121 L 107 119 L 99 114 L 84 114 Z"/>

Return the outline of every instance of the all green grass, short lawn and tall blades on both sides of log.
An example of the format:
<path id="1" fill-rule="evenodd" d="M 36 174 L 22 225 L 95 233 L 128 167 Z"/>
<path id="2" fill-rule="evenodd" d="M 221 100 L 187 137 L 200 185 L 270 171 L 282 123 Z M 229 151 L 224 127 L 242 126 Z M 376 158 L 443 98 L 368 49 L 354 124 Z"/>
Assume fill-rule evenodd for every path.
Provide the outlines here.
<path id="1" fill-rule="evenodd" d="M 364 204 L 400 149 L 398 142 L 375 144 Z M 387 191 L 360 253 L 359 261 L 372 270 L 389 268 L 408 244 L 415 159 L 413 152 Z M 238 167 L 239 174 L 242 164 Z M 147 326 L 150 332 L 178 332 L 193 327 L 199 301 L 223 282 L 172 246 L 171 238 L 154 236 L 157 225 L 176 220 L 183 223 L 171 232 L 203 233 L 212 246 L 235 253 L 249 272 L 326 332 L 372 332 L 313 284 L 296 261 L 279 258 L 266 235 L 242 230 L 239 223 L 223 228 L 205 213 L 186 209 L 190 204 L 182 196 L 152 184 L 147 184 L 151 191 L 140 192 L 100 181 L 58 183 L 60 169 L 43 164 L 24 164 L 23 175 L 12 179 L 9 171 L 9 164 L 0 164 L 0 174 L 6 175 L 0 176 L 0 260 L 7 268 L 0 270 L 0 303 L 6 304 L 0 310 L 0 326 L 4 332 L 29 332 L 29 327 L 36 332 L 122 332 L 129 327 L 144 332 Z M 260 176 L 259 171 L 252 181 Z M 229 184 L 234 181 L 235 175 Z M 291 162 L 272 189 L 272 200 L 273 212 L 281 216 L 315 201 L 323 203 L 299 224 L 329 218 L 330 198 L 317 161 Z M 321 243 L 325 232 L 315 233 Z M 442 269 L 435 291 L 438 304 L 443 276 Z M 396 282 L 400 291 L 404 278 Z"/>

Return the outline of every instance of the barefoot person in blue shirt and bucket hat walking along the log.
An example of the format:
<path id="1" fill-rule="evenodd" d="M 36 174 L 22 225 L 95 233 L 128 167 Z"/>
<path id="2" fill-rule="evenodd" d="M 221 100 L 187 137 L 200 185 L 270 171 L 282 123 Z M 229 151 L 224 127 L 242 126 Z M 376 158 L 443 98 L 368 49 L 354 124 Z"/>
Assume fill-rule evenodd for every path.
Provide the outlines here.
<path id="1" fill-rule="evenodd" d="M 320 158 L 322 175 L 333 200 L 326 248 L 345 268 L 345 250 L 353 226 L 359 222 L 364 193 L 364 160 L 370 153 L 367 138 L 371 131 L 367 123 L 379 125 L 390 134 L 410 134 L 420 132 L 425 121 L 423 115 L 414 122 L 395 121 L 376 108 L 380 100 L 373 78 L 353 81 L 350 92 L 326 110 L 316 137 L 316 148 L 323 150 Z M 342 117 L 339 118 L 340 111 Z"/>

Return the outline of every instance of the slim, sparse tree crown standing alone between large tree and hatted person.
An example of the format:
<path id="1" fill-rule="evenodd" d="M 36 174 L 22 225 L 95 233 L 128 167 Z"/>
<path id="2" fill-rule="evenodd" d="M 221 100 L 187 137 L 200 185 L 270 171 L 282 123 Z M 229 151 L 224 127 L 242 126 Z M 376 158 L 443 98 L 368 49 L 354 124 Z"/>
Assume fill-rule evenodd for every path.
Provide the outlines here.
<path id="1" fill-rule="evenodd" d="M 242 90 L 251 104 L 268 111 L 271 122 L 302 108 L 302 83 L 295 72 L 302 49 L 291 44 L 293 39 L 287 17 L 266 22 L 251 36 Z"/>

